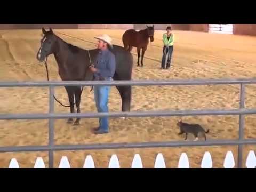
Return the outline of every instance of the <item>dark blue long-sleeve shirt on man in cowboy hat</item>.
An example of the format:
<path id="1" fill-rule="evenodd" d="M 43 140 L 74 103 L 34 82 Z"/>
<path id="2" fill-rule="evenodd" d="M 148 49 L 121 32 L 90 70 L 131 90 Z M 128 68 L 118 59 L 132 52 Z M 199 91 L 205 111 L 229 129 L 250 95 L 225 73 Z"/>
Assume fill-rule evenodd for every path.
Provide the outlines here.
<path id="1" fill-rule="evenodd" d="M 113 53 L 111 53 L 108 49 L 104 51 L 100 51 L 95 63 L 95 68 L 98 69 L 96 73 L 94 73 L 94 77 L 113 77 L 116 70 L 116 58 Z"/>

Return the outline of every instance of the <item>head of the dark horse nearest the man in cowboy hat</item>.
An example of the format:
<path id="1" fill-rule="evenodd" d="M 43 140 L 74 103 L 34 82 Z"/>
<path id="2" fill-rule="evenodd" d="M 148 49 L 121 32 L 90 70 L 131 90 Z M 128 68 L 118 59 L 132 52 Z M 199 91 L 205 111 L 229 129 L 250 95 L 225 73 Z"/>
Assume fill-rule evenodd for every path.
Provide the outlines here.
<path id="1" fill-rule="evenodd" d="M 54 48 L 56 45 L 57 38 L 53 34 L 52 29 L 50 28 L 49 31 L 46 31 L 44 28 L 42 28 L 43 32 L 43 38 L 41 39 L 41 46 L 39 47 L 39 50 L 37 52 L 36 58 L 43 62 L 48 55 L 52 54 L 54 52 Z"/>

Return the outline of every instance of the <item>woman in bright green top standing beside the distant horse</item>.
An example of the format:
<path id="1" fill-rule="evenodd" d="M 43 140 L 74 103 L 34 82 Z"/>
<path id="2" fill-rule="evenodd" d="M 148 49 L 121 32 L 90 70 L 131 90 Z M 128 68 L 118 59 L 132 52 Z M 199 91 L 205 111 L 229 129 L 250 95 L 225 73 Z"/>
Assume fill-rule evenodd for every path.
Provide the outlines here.
<path id="1" fill-rule="evenodd" d="M 172 61 L 174 36 L 172 34 L 172 28 L 170 26 L 166 28 L 166 31 L 167 33 L 163 35 L 164 48 L 163 48 L 161 69 L 169 69 Z M 166 62 L 166 58 L 168 58 L 167 62 Z"/>

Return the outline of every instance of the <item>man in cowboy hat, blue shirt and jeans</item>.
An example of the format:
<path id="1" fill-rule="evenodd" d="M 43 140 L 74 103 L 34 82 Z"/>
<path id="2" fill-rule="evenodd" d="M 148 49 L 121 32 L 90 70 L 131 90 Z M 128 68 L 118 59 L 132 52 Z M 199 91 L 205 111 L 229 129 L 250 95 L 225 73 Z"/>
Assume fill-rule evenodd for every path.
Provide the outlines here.
<path id="1" fill-rule="evenodd" d="M 94 80 L 111 81 L 116 70 L 115 55 L 109 49 L 113 49 L 111 38 L 108 35 L 94 37 L 98 39 L 98 49 L 100 50 L 95 66 L 90 67 Z M 110 86 L 94 86 L 94 99 L 98 112 L 108 112 L 108 95 Z M 108 117 L 99 118 L 100 126 L 94 129 L 95 134 L 108 133 Z"/>

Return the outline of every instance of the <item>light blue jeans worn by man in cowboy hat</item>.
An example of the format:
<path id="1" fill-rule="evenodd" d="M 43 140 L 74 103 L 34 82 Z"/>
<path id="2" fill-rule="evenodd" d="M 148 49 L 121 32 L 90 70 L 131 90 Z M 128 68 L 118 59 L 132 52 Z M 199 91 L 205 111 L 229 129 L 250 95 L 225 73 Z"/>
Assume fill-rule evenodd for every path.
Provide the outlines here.
<path id="1" fill-rule="evenodd" d="M 108 112 L 108 95 L 110 88 L 110 86 L 94 86 L 94 100 L 99 113 Z M 100 117 L 99 123 L 101 130 L 108 131 L 108 117 Z"/>

